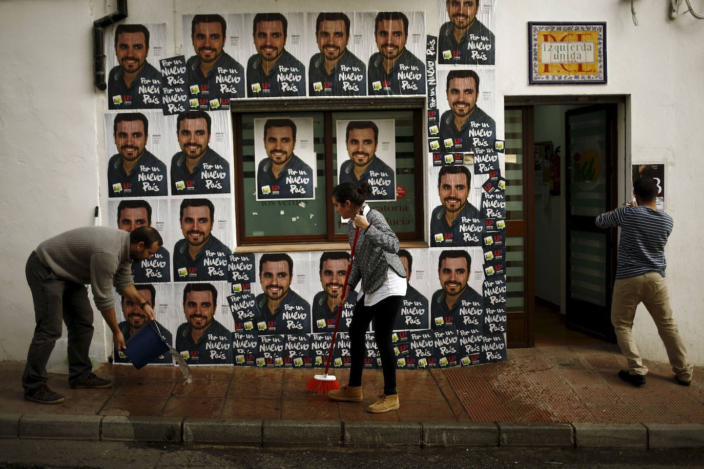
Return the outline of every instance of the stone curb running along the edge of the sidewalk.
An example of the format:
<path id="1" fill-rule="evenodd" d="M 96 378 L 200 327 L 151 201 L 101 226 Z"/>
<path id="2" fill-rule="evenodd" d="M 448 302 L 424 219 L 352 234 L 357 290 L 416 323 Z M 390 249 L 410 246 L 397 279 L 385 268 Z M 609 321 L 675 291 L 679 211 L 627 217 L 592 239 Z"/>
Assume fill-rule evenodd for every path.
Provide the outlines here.
<path id="1" fill-rule="evenodd" d="M 428 448 L 704 448 L 702 423 L 482 423 L 227 420 L 0 413 L 0 439 Z"/>

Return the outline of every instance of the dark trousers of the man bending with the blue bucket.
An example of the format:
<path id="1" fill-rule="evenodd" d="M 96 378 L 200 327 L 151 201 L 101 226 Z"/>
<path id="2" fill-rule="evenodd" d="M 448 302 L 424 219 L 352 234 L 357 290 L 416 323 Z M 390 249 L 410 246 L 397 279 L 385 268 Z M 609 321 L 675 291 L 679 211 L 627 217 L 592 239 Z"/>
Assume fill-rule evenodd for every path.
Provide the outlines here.
<path id="1" fill-rule="evenodd" d="M 88 356 L 93 338 L 93 309 L 88 290 L 85 285 L 56 277 L 36 252 L 27 259 L 25 274 L 32 290 L 37 326 L 27 352 L 22 387 L 30 392 L 46 383 L 46 362 L 56 340 L 61 338 L 62 319 L 68 330 L 68 383 L 73 385 L 93 368 Z"/>

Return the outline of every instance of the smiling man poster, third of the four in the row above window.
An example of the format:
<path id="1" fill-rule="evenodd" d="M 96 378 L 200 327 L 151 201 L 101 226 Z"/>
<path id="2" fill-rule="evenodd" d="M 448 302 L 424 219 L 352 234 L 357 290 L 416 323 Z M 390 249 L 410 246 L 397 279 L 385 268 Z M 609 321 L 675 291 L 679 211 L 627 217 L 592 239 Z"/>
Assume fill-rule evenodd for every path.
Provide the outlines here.
<path id="1" fill-rule="evenodd" d="M 308 14 L 308 96 L 365 96 L 367 23 L 360 13 Z"/>

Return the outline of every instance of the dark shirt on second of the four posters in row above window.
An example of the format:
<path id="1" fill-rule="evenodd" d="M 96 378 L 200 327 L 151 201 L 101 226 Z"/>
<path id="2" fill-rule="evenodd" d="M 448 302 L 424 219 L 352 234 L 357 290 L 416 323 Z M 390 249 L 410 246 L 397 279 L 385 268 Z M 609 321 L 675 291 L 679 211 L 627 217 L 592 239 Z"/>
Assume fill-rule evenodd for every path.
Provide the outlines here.
<path id="1" fill-rule="evenodd" d="M 247 61 L 247 97 L 306 96 L 306 67 L 284 50 L 269 73 L 258 53 Z"/>

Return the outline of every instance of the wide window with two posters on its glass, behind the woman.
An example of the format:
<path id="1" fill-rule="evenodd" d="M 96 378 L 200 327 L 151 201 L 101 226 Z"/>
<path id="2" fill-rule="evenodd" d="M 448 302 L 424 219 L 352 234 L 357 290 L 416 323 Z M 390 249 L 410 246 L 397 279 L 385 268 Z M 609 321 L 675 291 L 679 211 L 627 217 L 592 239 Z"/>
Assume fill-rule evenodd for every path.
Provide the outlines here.
<path id="1" fill-rule="evenodd" d="M 393 102 L 377 108 L 368 100 L 350 99 L 337 100 L 333 106 L 326 103 L 325 109 L 297 105 L 296 112 L 287 112 L 283 103 L 266 109 L 257 109 L 263 103 L 249 103 L 251 108 L 244 112 L 237 112 L 241 106 L 233 110 L 237 245 L 346 240 L 346 225 L 329 200 L 341 171 L 345 179 L 353 173 L 352 180 L 370 178 L 375 195 L 369 203 L 384 214 L 398 238 L 422 240 L 425 105 L 417 99 L 389 101 Z M 354 128 L 347 140 L 349 122 L 354 122 L 350 125 Z M 369 122 L 378 129 L 376 151 L 364 160 L 365 148 L 370 147 L 358 148 L 361 165 L 354 167 L 348 162 L 352 146 L 347 143 L 361 144 L 365 139 L 374 143 L 366 138 L 374 130 Z M 293 146 L 289 142 L 292 127 L 296 128 Z M 363 174 L 355 172 L 363 168 Z M 309 171 L 312 181 L 306 178 Z"/>

